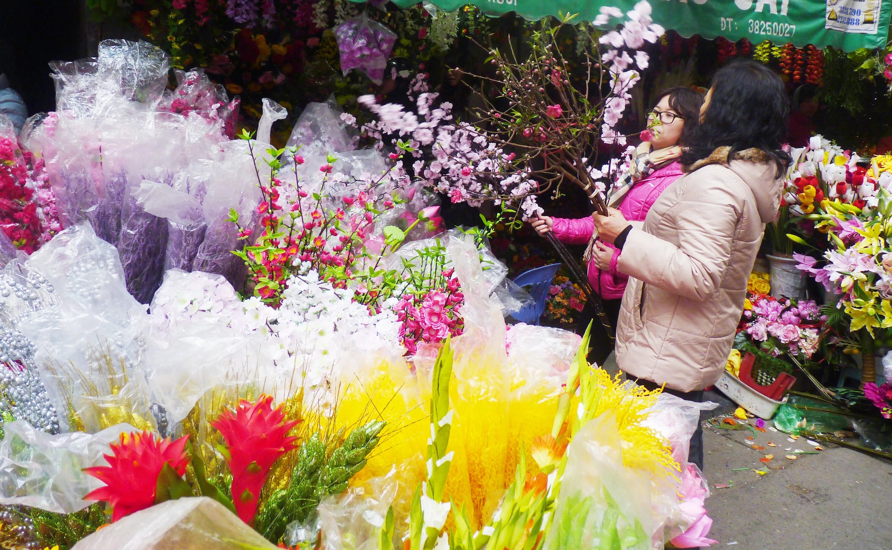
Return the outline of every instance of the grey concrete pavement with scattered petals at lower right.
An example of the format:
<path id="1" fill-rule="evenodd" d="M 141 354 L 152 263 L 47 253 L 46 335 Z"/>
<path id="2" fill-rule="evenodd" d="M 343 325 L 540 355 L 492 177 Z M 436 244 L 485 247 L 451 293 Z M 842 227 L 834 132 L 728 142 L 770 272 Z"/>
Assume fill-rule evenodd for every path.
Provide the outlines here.
<path id="1" fill-rule="evenodd" d="M 728 410 L 723 405 L 719 412 Z M 752 436 L 749 430 L 704 428 L 712 492 L 706 510 L 714 520 L 709 536 L 719 541 L 711 548 L 892 550 L 892 463 L 825 444 L 818 455 L 789 460 L 785 448 L 814 447 L 805 438 L 790 442 L 786 434 L 768 430 L 753 443 L 765 449 L 755 450 L 746 440 Z M 765 454 L 774 458 L 759 475 L 754 470 L 766 466 L 759 462 Z M 716 483 L 732 487 L 715 488 Z"/>

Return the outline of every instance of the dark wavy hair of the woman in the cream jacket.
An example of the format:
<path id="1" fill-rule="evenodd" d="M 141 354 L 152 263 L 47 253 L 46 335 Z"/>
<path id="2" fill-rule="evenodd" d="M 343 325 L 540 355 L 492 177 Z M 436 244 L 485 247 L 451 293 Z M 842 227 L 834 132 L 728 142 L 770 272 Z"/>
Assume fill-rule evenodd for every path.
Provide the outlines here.
<path id="1" fill-rule="evenodd" d="M 781 149 L 787 137 L 789 99 L 780 77 L 760 62 L 737 60 L 715 73 L 706 112 L 682 140 L 681 164 L 706 159 L 716 148 L 765 152 L 780 177 L 790 163 Z"/>

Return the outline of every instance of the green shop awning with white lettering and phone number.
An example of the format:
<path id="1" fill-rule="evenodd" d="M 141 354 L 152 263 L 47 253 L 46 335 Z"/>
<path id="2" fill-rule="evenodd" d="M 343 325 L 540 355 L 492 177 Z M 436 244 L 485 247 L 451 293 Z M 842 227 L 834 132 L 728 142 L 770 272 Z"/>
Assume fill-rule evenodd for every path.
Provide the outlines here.
<path id="1" fill-rule="evenodd" d="M 420 0 L 392 0 L 401 8 Z M 624 12 L 637 0 L 432 0 L 446 12 L 473 4 L 487 15 L 517 12 L 526 19 L 578 13 L 593 21 L 603 5 Z M 771 40 L 797 47 L 834 46 L 847 52 L 886 45 L 892 0 L 652 0 L 653 20 L 682 37 L 725 37 L 753 44 Z"/>

